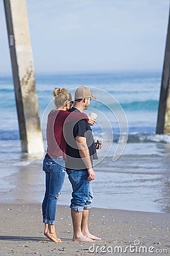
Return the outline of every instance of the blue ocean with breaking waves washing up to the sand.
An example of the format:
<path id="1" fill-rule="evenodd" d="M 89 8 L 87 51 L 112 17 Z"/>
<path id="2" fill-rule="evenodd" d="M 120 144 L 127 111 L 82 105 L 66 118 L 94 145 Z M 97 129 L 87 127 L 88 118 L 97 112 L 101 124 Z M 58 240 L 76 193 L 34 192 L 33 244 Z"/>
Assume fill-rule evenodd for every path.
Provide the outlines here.
<path id="1" fill-rule="evenodd" d="M 36 75 L 44 145 L 46 116 L 54 108 L 55 86 L 65 87 L 73 95 L 76 87 L 89 86 L 97 98 L 86 110 L 86 113 L 97 113 L 92 130 L 95 139 L 104 143 L 94 167 L 94 207 L 170 212 L 170 135 L 155 134 L 161 76 L 156 71 Z M 16 180 L 16 184 L 8 183 L 7 177 L 22 172 L 22 167 L 24 170 L 32 167 L 37 170 L 40 182 L 30 200 L 41 202 L 43 155 L 21 152 L 11 76 L 0 76 L 0 97 L 0 193 L 7 198 L 8 191 L 18 185 Z M 117 159 L 113 159 L 118 145 Z M 68 205 L 70 195 L 66 177 L 59 204 Z"/>

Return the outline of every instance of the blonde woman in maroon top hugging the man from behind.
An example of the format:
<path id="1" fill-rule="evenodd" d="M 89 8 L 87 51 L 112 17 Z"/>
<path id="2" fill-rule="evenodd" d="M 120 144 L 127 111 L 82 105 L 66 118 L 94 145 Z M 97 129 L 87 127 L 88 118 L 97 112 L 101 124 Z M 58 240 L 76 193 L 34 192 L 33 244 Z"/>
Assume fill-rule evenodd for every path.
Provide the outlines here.
<path id="1" fill-rule="evenodd" d="M 63 136 L 63 124 L 65 122 L 86 119 L 94 124 L 84 113 L 67 112 L 73 101 L 71 94 L 65 88 L 55 88 L 53 92 L 56 109 L 48 115 L 46 126 L 47 151 L 43 160 L 42 169 L 45 171 L 45 196 L 42 202 L 42 216 L 45 223 L 44 234 L 54 242 L 61 242 L 57 237 L 54 222 L 56 217 L 56 205 L 61 194 L 61 188 L 65 179 L 66 141 Z M 69 118 L 70 115 L 70 118 Z"/>

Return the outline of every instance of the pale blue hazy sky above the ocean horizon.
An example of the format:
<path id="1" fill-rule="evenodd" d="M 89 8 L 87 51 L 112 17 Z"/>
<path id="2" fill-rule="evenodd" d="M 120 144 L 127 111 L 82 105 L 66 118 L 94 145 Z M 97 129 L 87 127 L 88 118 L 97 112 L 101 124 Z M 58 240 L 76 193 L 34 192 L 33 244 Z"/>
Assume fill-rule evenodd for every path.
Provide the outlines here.
<path id="1" fill-rule="evenodd" d="M 10 74 L 0 1 L 0 74 Z M 36 73 L 162 71 L 169 0 L 26 2 Z"/>

